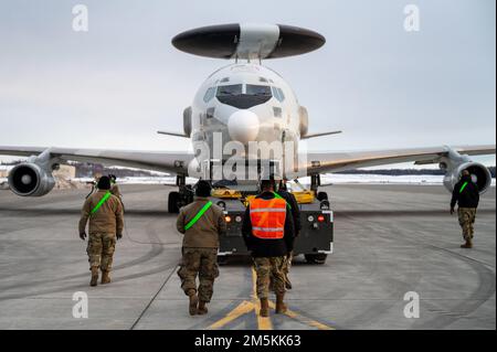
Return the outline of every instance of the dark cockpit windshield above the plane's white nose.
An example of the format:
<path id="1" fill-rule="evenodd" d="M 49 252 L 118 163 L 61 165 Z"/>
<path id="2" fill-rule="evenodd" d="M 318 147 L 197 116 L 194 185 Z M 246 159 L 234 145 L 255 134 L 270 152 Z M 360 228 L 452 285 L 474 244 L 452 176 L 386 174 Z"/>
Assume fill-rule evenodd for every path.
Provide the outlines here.
<path id="1" fill-rule="evenodd" d="M 244 93 L 243 85 L 234 84 L 219 86 L 215 96 L 222 104 L 231 105 L 239 109 L 247 109 L 268 102 L 272 94 L 269 86 L 247 84 Z"/>

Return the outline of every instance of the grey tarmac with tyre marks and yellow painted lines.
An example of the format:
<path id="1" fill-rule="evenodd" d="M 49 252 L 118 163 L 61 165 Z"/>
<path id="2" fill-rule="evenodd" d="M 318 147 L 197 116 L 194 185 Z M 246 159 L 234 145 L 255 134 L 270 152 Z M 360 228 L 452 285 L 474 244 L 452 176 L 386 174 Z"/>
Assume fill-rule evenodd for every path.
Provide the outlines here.
<path id="1" fill-rule="evenodd" d="M 188 314 L 171 190 L 121 186 L 127 232 L 113 282 L 95 288 L 77 234 L 87 191 L 0 191 L 0 329 L 496 329 L 495 188 L 482 198 L 475 247 L 462 249 L 441 185 L 328 186 L 335 252 L 325 265 L 295 259 L 289 311 L 268 319 L 248 259 L 220 267 L 209 314 Z M 87 295 L 87 318 L 73 316 L 75 292 Z M 405 317 L 406 294 L 419 297 L 419 318 Z"/>

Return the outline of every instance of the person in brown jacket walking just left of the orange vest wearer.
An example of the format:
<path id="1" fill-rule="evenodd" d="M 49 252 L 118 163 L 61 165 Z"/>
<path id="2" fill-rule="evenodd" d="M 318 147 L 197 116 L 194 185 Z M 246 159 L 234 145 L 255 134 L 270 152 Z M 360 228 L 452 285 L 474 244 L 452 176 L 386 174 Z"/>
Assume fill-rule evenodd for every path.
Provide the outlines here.
<path id="1" fill-rule="evenodd" d="M 211 301 L 214 280 L 219 276 L 219 236 L 226 232 L 223 210 L 215 204 L 212 204 L 191 227 L 187 226 L 208 204 L 210 194 L 209 182 L 199 181 L 195 200 L 181 207 L 177 220 L 178 231 L 184 234 L 182 263 L 178 276 L 181 279 L 181 288 L 189 297 L 191 316 L 208 312 L 205 305 Z M 197 276 L 199 276 L 199 287 L 197 287 Z"/>

